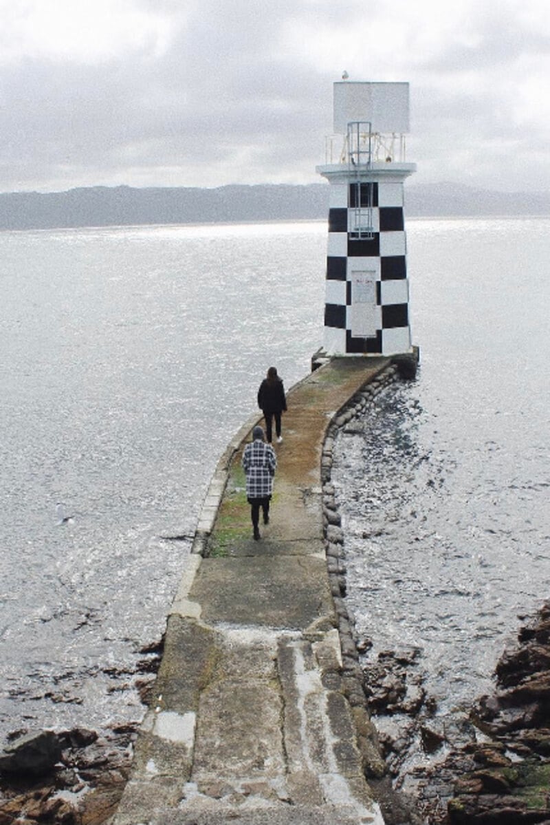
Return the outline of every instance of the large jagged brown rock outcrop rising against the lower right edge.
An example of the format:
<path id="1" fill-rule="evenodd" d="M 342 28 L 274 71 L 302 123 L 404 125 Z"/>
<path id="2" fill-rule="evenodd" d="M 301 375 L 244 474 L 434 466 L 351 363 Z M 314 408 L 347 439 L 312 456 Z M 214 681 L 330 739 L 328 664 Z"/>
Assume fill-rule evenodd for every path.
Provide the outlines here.
<path id="1" fill-rule="evenodd" d="M 472 710 L 477 741 L 431 771 L 432 792 L 453 786 L 446 814 L 432 809 L 432 825 L 550 825 L 549 664 L 547 603 L 501 657 L 495 694 Z"/>

